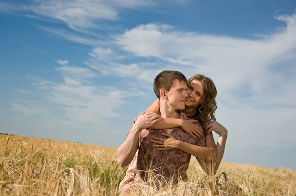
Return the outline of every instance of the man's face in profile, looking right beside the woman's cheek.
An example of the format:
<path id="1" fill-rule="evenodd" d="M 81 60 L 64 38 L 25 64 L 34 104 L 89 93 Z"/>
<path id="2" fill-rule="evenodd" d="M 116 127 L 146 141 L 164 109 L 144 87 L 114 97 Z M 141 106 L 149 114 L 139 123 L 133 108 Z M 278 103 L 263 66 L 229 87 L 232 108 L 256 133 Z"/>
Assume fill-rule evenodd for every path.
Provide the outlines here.
<path id="1" fill-rule="evenodd" d="M 167 100 L 169 105 L 176 110 L 184 110 L 185 102 L 188 94 L 186 93 L 187 84 L 175 80 L 171 90 L 167 92 Z"/>

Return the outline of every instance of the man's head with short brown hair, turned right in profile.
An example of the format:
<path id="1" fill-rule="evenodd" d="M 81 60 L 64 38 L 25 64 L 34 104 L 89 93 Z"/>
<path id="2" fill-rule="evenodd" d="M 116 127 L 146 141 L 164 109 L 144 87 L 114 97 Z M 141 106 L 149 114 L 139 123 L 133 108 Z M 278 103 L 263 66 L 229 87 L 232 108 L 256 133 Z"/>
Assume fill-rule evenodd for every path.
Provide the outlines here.
<path id="1" fill-rule="evenodd" d="M 162 71 L 154 79 L 154 93 L 176 110 L 185 109 L 187 79 L 179 71 Z"/>

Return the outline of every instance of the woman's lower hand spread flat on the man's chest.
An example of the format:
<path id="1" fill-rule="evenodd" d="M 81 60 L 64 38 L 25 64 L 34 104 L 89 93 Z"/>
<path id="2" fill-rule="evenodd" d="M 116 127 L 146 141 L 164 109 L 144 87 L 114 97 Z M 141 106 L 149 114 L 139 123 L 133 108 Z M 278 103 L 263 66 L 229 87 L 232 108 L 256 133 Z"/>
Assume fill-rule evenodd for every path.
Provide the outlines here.
<path id="1" fill-rule="evenodd" d="M 151 140 L 152 146 L 157 147 L 156 150 L 173 150 L 178 148 L 178 143 L 180 142 L 178 139 L 176 139 L 173 135 L 161 133 L 163 136 L 166 136 L 168 138 L 160 138 L 160 137 L 154 137 L 152 136 Z"/>

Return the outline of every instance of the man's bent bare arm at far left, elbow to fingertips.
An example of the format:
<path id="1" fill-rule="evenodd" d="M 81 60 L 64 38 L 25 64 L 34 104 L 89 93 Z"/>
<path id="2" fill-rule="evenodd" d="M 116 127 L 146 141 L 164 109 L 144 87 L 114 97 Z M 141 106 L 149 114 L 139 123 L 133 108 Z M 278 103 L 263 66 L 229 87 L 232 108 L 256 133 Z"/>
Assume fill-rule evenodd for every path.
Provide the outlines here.
<path id="1" fill-rule="evenodd" d="M 140 114 L 133 122 L 131 129 L 124 142 L 117 149 L 117 163 L 125 167 L 131 163 L 139 148 L 139 134 L 154 123 L 160 121 L 160 116 L 150 112 Z"/>

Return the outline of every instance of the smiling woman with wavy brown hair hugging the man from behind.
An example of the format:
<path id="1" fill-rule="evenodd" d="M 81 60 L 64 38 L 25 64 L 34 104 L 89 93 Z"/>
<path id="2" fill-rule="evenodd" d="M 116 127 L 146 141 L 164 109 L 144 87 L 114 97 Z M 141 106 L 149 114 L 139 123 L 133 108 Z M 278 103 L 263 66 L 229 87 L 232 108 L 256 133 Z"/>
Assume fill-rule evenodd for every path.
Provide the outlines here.
<path id="1" fill-rule="evenodd" d="M 196 159 L 200 163 L 203 170 L 208 174 L 215 174 L 221 163 L 225 143 L 227 138 L 227 130 L 216 121 L 215 111 L 217 109 L 217 102 L 215 100 L 217 96 L 217 89 L 214 82 L 200 74 L 196 74 L 189 78 L 188 81 L 187 94 L 188 98 L 185 102 L 185 109 L 182 111 L 187 117 L 197 120 L 201 127 L 196 126 L 193 122 L 196 121 L 185 121 L 182 119 L 166 119 L 163 118 L 160 122 L 157 122 L 149 129 L 172 129 L 175 127 L 181 127 L 184 131 L 189 133 L 192 137 L 202 137 L 205 135 L 206 147 L 212 147 L 215 141 L 212 131 L 219 134 L 219 139 L 216 145 L 216 154 L 213 162 L 204 161 L 204 157 L 208 156 L 203 153 L 203 149 L 206 147 L 195 146 L 193 144 L 186 144 L 186 149 L 182 149 L 185 152 L 195 155 Z M 157 113 L 160 107 L 159 99 L 157 99 L 152 105 L 148 107 L 146 113 L 155 112 Z M 161 138 L 154 137 L 151 141 L 153 146 L 157 150 L 171 150 L 178 148 L 178 140 L 172 135 L 166 134 L 168 138 L 163 140 Z M 197 137 L 196 137 L 197 136 Z M 196 153 L 197 152 L 197 153 Z M 199 152 L 199 153 L 198 153 Z M 205 151 L 206 152 L 206 151 Z"/>

